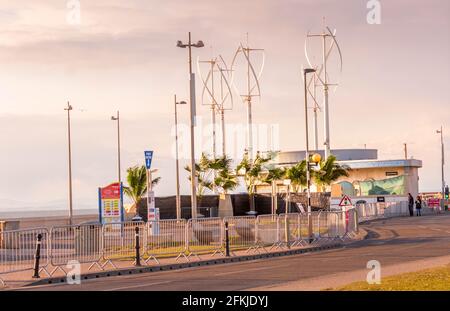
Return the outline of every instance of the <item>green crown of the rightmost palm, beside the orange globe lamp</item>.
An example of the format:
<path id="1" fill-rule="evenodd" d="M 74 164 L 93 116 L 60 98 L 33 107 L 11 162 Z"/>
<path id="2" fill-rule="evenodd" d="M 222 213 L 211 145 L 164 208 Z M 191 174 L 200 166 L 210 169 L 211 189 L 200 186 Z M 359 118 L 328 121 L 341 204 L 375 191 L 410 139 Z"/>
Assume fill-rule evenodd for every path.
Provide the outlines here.
<path id="1" fill-rule="evenodd" d="M 319 169 L 312 171 L 314 182 L 320 189 L 330 186 L 334 181 L 340 177 L 348 177 L 350 168 L 346 165 L 340 165 L 336 162 L 336 157 L 330 155 L 326 161 L 320 161 Z"/>

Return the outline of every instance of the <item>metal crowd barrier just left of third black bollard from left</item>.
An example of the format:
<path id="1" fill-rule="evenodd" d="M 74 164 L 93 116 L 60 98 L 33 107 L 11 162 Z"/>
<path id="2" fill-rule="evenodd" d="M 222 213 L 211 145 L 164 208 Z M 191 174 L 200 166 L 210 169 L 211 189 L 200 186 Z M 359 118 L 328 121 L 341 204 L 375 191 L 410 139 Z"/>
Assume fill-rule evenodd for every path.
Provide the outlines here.
<path id="1" fill-rule="evenodd" d="M 186 226 L 187 257 L 202 253 L 220 253 L 223 249 L 224 228 L 222 218 L 189 219 Z"/>

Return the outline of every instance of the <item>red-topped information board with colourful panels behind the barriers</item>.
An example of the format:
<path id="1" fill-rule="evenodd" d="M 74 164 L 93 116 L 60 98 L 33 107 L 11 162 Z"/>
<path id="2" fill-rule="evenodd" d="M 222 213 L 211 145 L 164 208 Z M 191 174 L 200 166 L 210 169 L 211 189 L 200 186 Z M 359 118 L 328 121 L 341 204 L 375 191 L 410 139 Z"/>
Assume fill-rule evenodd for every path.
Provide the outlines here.
<path id="1" fill-rule="evenodd" d="M 102 224 L 123 221 L 122 184 L 112 183 L 98 189 L 99 220 Z"/>

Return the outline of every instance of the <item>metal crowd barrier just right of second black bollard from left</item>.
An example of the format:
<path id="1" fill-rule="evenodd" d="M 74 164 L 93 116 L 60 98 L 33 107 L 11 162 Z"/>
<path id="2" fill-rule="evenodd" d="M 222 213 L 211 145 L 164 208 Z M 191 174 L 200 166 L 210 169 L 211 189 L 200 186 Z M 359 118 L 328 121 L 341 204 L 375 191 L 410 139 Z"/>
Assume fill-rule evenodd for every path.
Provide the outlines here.
<path id="1" fill-rule="evenodd" d="M 186 220 L 155 220 L 147 222 L 144 253 L 146 262 L 158 257 L 186 257 Z"/>

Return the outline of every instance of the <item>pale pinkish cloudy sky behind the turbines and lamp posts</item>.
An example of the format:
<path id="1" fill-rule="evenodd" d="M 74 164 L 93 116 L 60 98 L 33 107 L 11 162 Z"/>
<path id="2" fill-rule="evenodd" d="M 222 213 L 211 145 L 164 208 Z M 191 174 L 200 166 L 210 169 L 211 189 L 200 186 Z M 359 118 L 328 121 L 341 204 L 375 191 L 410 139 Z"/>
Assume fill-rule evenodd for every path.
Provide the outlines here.
<path id="1" fill-rule="evenodd" d="M 117 179 L 116 123 L 121 114 L 122 175 L 144 163 L 162 176 L 156 195 L 175 192 L 173 96 L 189 96 L 187 51 L 176 47 L 203 40 L 197 59 L 222 55 L 228 65 L 240 43 L 265 52 L 255 124 L 275 126 L 276 147 L 304 149 L 303 82 L 308 31 L 321 32 L 323 18 L 336 29 L 343 56 L 330 56 L 331 147 L 375 148 L 379 158 L 408 154 L 423 161 L 420 190 L 440 188 L 440 141 L 450 155 L 450 65 L 447 0 L 380 1 L 381 23 L 369 24 L 366 0 L 0 0 L 0 209 L 65 208 L 67 119 L 72 118 L 75 208 L 95 208 L 97 188 Z M 77 18 L 79 7 L 80 14 Z M 314 64 L 319 41 L 308 41 Z M 256 68 L 261 53 L 253 59 Z M 236 62 L 236 76 L 242 62 Z M 207 69 L 202 65 L 203 76 Z M 197 113 L 207 124 L 197 72 Z M 240 76 L 242 77 L 242 76 Z M 239 90 L 227 124 L 245 125 Z M 234 90 L 233 90 L 234 91 Z M 321 103 L 321 102 L 320 102 Z M 188 107 L 179 106 L 186 134 Z M 323 114 L 319 115 L 322 142 Z M 201 132 L 201 133 L 200 133 Z M 207 130 L 198 129 L 207 140 Z M 182 166 L 187 135 L 181 135 Z M 239 136 L 239 135 L 238 135 Z M 198 150 L 211 152 L 204 141 Z M 236 150 L 240 154 L 242 150 Z M 448 157 L 447 157 L 448 159 Z M 450 163 L 450 160 L 447 160 Z M 450 165 L 445 168 L 450 176 Z M 450 179 L 448 177 L 447 179 Z M 182 193 L 189 193 L 182 171 Z"/>

